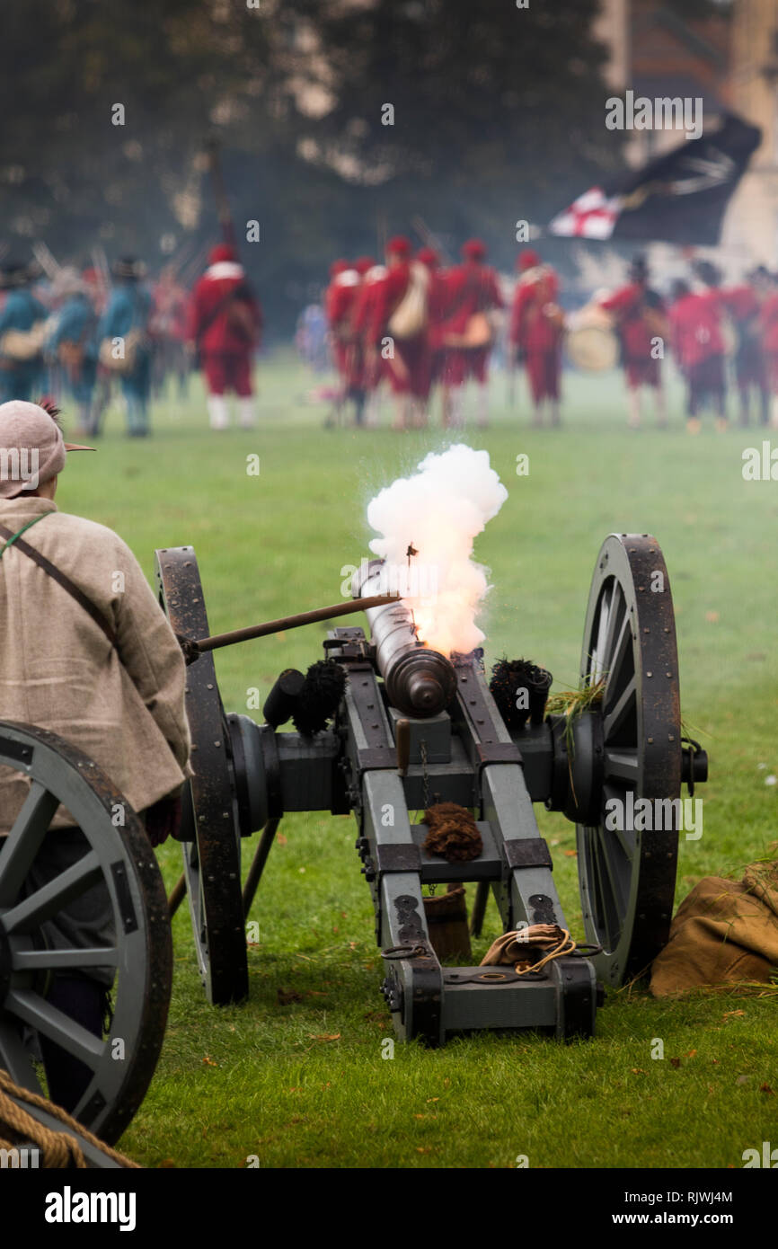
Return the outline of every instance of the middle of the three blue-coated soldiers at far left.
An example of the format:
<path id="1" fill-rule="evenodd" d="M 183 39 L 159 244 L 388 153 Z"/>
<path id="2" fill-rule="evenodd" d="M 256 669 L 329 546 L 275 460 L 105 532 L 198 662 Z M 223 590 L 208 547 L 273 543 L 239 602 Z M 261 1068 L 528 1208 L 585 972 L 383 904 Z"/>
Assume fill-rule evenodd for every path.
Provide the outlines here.
<path id="1" fill-rule="evenodd" d="M 62 269 L 57 274 L 51 294 L 61 304 L 47 350 L 57 360 L 79 406 L 80 432 L 94 438 L 100 433 L 92 403 L 97 376 L 97 315 L 86 282 L 75 269 Z"/>

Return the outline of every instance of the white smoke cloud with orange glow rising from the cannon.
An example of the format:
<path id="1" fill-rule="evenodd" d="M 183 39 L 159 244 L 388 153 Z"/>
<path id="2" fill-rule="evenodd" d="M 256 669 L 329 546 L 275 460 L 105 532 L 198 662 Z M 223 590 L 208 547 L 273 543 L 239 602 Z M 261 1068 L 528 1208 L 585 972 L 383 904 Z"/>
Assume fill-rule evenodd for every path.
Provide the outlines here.
<path id="1" fill-rule="evenodd" d="M 488 452 L 460 442 L 431 452 L 412 477 L 368 503 L 367 521 L 381 535 L 370 548 L 386 561 L 382 583 L 407 591 L 418 638 L 435 651 L 467 653 L 483 641 L 476 616 L 488 570 L 472 557 L 473 538 L 507 497 Z M 410 546 L 418 553 L 408 560 Z"/>

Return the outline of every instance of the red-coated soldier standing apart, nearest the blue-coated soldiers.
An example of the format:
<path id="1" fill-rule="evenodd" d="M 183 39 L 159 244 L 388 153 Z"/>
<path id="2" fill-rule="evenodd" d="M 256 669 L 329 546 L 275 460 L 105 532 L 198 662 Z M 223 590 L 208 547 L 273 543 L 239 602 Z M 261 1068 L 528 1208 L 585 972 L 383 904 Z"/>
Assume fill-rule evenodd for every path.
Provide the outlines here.
<path id="1" fill-rule="evenodd" d="M 187 338 L 197 352 L 209 392 L 212 430 L 230 423 L 226 392 L 235 391 L 240 423 L 255 423 L 251 361 L 262 331 L 262 310 L 229 244 L 211 249 L 209 267 L 189 306 Z"/>

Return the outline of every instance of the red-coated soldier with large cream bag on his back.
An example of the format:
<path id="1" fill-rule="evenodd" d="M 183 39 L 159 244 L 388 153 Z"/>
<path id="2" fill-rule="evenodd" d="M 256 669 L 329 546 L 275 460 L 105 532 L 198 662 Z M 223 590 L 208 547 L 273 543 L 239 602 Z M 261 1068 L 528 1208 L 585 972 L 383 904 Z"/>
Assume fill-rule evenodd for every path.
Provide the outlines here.
<path id="1" fill-rule="evenodd" d="M 401 235 L 390 239 L 367 341 L 368 351 L 380 353 L 397 400 L 395 430 L 423 428 L 427 420 L 428 287 L 428 270 L 411 260 L 408 240 Z"/>

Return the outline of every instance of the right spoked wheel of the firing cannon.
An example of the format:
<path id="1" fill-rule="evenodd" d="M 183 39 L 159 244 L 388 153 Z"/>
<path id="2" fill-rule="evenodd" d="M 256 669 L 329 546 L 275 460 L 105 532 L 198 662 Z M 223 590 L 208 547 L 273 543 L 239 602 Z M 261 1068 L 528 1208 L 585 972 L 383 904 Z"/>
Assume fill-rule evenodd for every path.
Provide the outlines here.
<path id="1" fill-rule="evenodd" d="M 577 824 L 583 921 L 587 938 L 602 947 L 598 974 L 621 984 L 667 943 L 678 853 L 677 824 L 667 818 L 667 804 L 658 808 L 654 801 L 679 797 L 682 747 L 673 602 L 649 535 L 612 533 L 599 551 L 581 681 L 603 683 L 599 818 Z M 649 799 L 649 822 L 631 818 L 641 798 Z M 662 818 L 654 818 L 658 811 Z M 624 827 L 613 827 L 618 823 Z"/>

